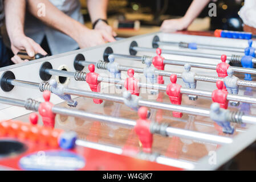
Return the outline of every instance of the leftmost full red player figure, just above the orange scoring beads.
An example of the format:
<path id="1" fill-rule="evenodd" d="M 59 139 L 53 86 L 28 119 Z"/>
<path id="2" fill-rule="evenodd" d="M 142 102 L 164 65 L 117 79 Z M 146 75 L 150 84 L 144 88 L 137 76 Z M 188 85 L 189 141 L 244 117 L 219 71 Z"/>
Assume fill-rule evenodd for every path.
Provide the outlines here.
<path id="1" fill-rule="evenodd" d="M 43 98 L 45 102 L 39 105 L 38 111 L 42 117 L 43 125 L 46 127 L 54 127 L 56 114 L 52 113 L 52 107 L 54 106 L 50 102 L 51 92 L 46 90 L 43 92 Z"/>

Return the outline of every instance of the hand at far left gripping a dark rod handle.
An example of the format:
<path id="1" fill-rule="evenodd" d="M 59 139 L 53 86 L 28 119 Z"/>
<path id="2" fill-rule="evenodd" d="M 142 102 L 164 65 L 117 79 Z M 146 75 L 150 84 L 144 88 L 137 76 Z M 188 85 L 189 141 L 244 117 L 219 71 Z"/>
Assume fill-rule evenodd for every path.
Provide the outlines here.
<path id="1" fill-rule="evenodd" d="M 30 57 L 34 57 L 36 53 L 40 53 L 42 55 L 47 55 L 47 52 L 36 43 L 34 40 L 28 38 L 25 35 L 15 36 L 14 39 L 11 39 L 11 51 L 14 53 L 14 57 L 11 58 L 13 63 L 24 63 L 29 60 L 22 60 L 21 57 L 17 56 L 19 51 L 26 50 L 27 55 Z"/>

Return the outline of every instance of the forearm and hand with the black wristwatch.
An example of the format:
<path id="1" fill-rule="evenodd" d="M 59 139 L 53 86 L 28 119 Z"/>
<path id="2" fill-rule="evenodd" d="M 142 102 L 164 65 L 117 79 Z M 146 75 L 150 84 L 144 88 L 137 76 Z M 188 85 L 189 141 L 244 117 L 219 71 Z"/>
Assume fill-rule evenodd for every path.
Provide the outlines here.
<path id="1" fill-rule="evenodd" d="M 107 19 L 107 7 L 108 0 L 88 0 L 87 1 L 88 11 L 91 17 L 92 23 L 97 19 Z M 109 35 L 117 36 L 116 32 L 113 31 L 111 26 L 108 26 L 105 22 L 98 22 L 95 26 L 96 30 L 105 30 Z"/>

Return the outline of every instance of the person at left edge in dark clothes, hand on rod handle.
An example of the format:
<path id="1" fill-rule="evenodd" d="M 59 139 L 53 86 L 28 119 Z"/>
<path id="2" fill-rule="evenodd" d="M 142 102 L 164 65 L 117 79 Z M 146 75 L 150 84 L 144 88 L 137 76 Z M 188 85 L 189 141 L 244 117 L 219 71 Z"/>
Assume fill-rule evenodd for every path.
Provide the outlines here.
<path id="1" fill-rule="evenodd" d="M 0 24 L 1 26 L 3 25 L 3 18 L 5 16 L 5 24 L 11 42 L 11 50 L 14 54 L 17 54 L 19 50 L 25 50 L 30 57 L 34 57 L 35 53 L 46 55 L 47 53 L 39 46 L 39 44 L 28 38 L 24 33 L 25 10 L 26 0 L 0 0 Z M 6 53 L 6 47 L 3 44 L 1 37 L 0 67 L 9 65 L 9 59 L 10 57 Z M 15 56 L 11 60 L 15 64 L 28 61 L 17 61 Z"/>

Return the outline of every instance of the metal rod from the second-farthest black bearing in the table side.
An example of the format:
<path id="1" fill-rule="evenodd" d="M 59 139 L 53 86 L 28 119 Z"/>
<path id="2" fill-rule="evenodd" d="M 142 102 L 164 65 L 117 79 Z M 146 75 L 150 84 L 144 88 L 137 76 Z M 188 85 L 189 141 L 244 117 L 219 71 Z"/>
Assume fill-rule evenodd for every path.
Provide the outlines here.
<path id="1" fill-rule="evenodd" d="M 146 47 L 133 47 L 132 48 L 135 51 L 143 51 L 143 52 L 156 52 L 155 48 L 146 48 Z M 172 51 L 172 50 L 166 50 L 162 49 L 162 53 L 172 54 L 172 55 L 181 55 L 181 56 L 192 56 L 192 57 L 204 57 L 209 59 L 220 59 L 221 55 L 214 55 L 209 53 L 201 53 L 201 52 L 184 52 L 184 51 Z M 233 56 L 236 57 L 236 55 L 227 55 L 227 60 L 233 61 Z M 239 57 L 239 56 L 238 56 Z M 236 59 L 236 61 L 241 61 L 239 59 Z M 252 59 L 253 63 L 256 63 L 256 59 Z"/>

